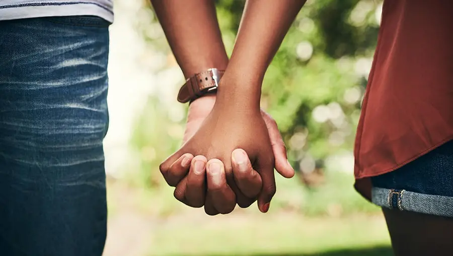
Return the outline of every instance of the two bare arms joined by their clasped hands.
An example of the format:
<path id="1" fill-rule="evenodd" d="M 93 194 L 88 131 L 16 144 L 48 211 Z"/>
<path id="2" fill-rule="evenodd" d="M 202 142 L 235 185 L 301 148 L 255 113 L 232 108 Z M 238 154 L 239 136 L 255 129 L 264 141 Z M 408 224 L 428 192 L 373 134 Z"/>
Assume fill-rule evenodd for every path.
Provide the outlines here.
<path id="1" fill-rule="evenodd" d="M 209 215 L 258 201 L 265 213 L 276 191 L 274 167 L 284 177 L 294 175 L 260 97 L 264 73 L 304 3 L 247 1 L 229 60 L 214 1 L 152 1 L 186 79 L 209 68 L 225 70 L 215 95 L 189 89 L 202 97 L 192 98 L 182 147 L 160 165 L 179 201 L 204 206 Z"/>

